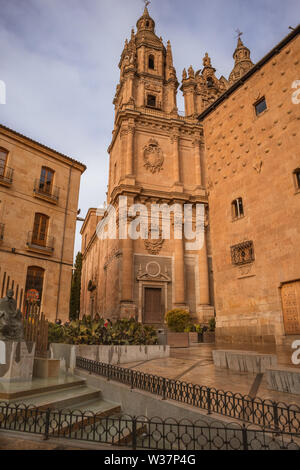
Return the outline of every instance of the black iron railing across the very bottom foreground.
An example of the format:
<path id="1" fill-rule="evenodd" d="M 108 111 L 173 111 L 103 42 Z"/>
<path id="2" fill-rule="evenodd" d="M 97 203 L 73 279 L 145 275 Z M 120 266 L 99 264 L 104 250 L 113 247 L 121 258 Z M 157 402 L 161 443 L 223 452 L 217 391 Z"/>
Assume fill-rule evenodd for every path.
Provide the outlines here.
<path id="1" fill-rule="evenodd" d="M 191 422 L 0 403 L 0 430 L 151 450 L 300 450 L 300 434 L 254 425 Z"/>

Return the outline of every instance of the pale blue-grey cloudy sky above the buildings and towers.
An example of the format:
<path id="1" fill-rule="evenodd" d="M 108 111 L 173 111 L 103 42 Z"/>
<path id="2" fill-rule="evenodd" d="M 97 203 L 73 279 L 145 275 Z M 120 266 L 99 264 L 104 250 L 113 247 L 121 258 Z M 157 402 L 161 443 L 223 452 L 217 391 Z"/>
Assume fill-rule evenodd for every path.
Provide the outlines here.
<path id="1" fill-rule="evenodd" d="M 157 35 L 171 41 L 179 81 L 183 68 L 202 68 L 206 52 L 228 78 L 237 29 L 255 63 L 300 22 L 300 0 L 152 0 L 148 8 Z M 0 123 L 87 165 L 83 217 L 106 200 L 118 63 L 143 9 L 142 0 L 0 0 Z"/>

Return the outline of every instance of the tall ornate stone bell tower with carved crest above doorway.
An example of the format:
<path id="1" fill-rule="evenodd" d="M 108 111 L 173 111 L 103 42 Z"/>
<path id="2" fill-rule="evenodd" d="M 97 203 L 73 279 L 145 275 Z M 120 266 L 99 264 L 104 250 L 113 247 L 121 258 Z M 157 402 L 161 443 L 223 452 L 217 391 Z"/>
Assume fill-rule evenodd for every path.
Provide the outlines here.
<path id="1" fill-rule="evenodd" d="M 147 7 L 137 31 L 125 41 L 114 97 L 115 121 L 108 152 L 107 203 L 128 208 L 152 204 L 171 208 L 207 206 L 204 188 L 203 130 L 197 119 L 178 114 L 178 81 L 171 44 L 155 33 Z M 102 217 L 102 216 L 101 216 Z M 199 319 L 213 316 L 210 305 L 207 244 L 187 252 L 184 238 L 158 233 L 156 239 L 96 240 L 97 307 L 109 318 L 135 316 L 162 325 L 167 310 L 182 307 Z M 128 216 L 127 223 L 134 217 Z"/>

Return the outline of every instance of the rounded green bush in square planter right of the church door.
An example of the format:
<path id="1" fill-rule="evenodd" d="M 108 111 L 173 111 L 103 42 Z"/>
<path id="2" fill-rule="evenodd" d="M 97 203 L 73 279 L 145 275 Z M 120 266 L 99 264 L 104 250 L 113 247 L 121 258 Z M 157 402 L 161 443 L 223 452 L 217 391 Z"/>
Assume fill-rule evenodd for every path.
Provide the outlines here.
<path id="1" fill-rule="evenodd" d="M 166 314 L 168 325 L 167 344 L 173 348 L 189 347 L 189 332 L 186 331 L 191 323 L 187 310 L 173 309 Z"/>

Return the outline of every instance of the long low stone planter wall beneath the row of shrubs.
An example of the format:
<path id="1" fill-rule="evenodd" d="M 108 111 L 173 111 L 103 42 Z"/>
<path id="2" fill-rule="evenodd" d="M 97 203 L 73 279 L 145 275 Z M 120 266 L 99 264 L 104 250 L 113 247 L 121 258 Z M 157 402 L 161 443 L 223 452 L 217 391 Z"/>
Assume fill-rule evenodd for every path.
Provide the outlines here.
<path id="1" fill-rule="evenodd" d="M 73 373 L 76 356 L 104 362 L 105 364 L 126 364 L 130 362 L 151 361 L 169 357 L 169 346 L 90 346 L 54 343 L 50 345 L 51 358 L 60 359 L 61 370 Z"/>

